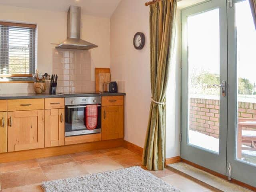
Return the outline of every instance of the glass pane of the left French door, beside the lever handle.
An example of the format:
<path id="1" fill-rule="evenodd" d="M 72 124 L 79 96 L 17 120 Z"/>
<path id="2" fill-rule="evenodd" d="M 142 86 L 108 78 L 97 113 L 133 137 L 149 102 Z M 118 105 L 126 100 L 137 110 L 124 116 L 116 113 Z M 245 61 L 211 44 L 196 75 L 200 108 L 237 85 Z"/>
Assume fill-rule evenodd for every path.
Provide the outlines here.
<path id="1" fill-rule="evenodd" d="M 188 143 L 219 152 L 220 18 L 219 9 L 189 16 Z"/>

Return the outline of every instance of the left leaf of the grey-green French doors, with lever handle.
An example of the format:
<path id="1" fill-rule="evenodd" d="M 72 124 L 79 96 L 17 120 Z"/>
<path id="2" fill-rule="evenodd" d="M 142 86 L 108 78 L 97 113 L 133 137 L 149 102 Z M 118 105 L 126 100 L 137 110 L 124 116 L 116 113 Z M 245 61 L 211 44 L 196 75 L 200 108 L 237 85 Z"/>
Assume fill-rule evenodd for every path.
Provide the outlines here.
<path id="1" fill-rule="evenodd" d="M 219 88 L 228 81 L 226 21 L 225 0 L 182 10 L 181 157 L 221 174 L 226 174 L 228 100 Z"/>

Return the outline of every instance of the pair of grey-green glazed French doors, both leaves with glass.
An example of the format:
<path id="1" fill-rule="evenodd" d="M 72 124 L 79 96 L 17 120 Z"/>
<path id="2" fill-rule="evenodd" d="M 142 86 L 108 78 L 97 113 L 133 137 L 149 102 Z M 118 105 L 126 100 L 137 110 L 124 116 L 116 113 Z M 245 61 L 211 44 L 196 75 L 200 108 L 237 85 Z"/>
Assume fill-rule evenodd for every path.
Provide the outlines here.
<path id="1" fill-rule="evenodd" d="M 249 0 L 182 10 L 181 157 L 256 186 L 256 30 Z"/>

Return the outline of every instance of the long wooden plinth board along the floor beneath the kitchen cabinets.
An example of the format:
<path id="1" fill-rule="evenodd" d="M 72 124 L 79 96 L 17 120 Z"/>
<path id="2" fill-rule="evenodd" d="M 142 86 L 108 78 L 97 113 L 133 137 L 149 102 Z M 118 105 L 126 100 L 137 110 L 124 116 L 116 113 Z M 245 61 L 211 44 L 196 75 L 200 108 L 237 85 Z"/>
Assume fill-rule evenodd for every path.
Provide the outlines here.
<path id="1" fill-rule="evenodd" d="M 73 144 L 58 147 L 40 148 L 0 154 L 0 163 L 44 158 L 64 154 L 86 152 L 123 146 L 123 139 L 97 141 L 83 144 Z"/>

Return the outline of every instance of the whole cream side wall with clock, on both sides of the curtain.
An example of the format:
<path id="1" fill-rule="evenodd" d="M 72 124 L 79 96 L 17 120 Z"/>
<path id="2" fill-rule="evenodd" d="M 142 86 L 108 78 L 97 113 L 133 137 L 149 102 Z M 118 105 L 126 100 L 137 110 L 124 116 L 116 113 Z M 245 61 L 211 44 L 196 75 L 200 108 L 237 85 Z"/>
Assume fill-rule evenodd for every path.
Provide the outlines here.
<path id="1" fill-rule="evenodd" d="M 150 108 L 149 7 L 144 0 L 122 0 L 110 18 L 110 68 L 114 80 L 125 81 L 124 139 L 140 147 L 148 125 Z M 143 32 L 146 43 L 142 50 L 133 46 L 136 32 Z M 178 38 L 178 37 L 177 37 Z M 179 57 L 172 64 L 167 98 L 166 157 L 180 154 L 180 74 Z"/>

